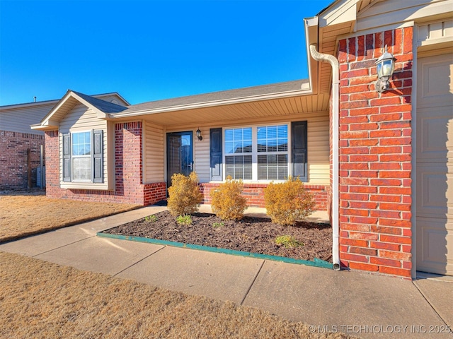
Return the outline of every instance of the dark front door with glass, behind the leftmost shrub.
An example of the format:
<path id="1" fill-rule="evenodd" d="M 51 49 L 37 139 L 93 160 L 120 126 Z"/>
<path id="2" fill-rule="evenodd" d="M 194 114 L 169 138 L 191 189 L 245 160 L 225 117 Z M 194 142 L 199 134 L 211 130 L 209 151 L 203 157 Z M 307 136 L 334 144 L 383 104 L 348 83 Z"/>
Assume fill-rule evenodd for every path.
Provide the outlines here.
<path id="1" fill-rule="evenodd" d="M 192 131 L 167 133 L 167 187 L 175 173 L 193 171 Z"/>

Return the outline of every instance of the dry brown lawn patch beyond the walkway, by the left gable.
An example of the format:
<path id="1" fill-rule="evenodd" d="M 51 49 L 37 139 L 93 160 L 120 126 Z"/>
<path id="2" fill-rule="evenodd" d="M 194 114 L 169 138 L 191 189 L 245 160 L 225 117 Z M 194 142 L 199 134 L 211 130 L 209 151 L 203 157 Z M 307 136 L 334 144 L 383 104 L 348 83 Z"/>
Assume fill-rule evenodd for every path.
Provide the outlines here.
<path id="1" fill-rule="evenodd" d="M 139 207 L 125 203 L 92 203 L 50 199 L 42 191 L 0 195 L 0 242 L 75 225 Z"/>

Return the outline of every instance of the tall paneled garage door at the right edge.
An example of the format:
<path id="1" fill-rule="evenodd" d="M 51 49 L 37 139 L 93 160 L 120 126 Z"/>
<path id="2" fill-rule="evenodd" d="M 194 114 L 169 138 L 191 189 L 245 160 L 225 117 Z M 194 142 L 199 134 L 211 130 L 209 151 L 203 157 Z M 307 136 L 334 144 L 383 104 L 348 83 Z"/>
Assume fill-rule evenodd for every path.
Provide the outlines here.
<path id="1" fill-rule="evenodd" d="M 416 266 L 453 275 L 453 54 L 417 62 Z"/>

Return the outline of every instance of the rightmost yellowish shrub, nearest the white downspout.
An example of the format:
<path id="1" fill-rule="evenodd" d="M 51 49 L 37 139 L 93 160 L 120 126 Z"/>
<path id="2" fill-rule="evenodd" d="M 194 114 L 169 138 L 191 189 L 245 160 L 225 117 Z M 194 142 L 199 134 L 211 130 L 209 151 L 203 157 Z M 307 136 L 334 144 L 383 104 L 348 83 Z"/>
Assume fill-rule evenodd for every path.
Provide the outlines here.
<path id="1" fill-rule="evenodd" d="M 289 177 L 286 182 L 271 182 L 264 190 L 265 208 L 272 222 L 294 225 L 314 211 L 314 195 L 304 189 L 299 178 Z"/>

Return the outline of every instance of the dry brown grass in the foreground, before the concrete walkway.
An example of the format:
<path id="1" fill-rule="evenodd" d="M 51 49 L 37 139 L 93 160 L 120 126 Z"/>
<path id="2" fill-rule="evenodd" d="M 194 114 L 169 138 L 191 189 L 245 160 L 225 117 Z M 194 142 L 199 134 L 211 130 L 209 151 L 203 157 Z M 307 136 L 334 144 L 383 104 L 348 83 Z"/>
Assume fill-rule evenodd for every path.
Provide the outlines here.
<path id="1" fill-rule="evenodd" d="M 265 311 L 0 252 L 0 338 L 346 338 Z"/>

